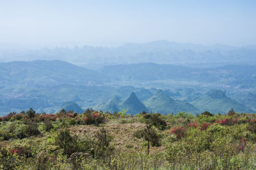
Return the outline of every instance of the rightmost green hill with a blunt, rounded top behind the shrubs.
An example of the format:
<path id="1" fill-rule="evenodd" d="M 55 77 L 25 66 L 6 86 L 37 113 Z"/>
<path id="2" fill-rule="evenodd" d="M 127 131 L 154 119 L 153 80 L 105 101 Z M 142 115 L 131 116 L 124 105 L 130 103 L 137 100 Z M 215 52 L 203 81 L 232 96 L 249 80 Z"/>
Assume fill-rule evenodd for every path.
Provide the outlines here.
<path id="1" fill-rule="evenodd" d="M 200 112 L 227 113 L 230 109 L 234 109 L 235 112 L 252 112 L 248 107 L 227 97 L 223 91 L 215 89 L 209 91 L 206 97 L 198 98 L 190 104 L 195 105 Z"/>

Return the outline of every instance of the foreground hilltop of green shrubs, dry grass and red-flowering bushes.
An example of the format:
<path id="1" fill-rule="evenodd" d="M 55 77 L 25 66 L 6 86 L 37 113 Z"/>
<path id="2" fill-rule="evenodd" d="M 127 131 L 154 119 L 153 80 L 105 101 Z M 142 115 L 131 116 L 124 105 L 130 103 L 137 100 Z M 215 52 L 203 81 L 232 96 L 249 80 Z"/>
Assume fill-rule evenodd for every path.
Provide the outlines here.
<path id="1" fill-rule="evenodd" d="M 0 121 L 1 169 L 256 169 L 256 114 L 30 109 Z"/>

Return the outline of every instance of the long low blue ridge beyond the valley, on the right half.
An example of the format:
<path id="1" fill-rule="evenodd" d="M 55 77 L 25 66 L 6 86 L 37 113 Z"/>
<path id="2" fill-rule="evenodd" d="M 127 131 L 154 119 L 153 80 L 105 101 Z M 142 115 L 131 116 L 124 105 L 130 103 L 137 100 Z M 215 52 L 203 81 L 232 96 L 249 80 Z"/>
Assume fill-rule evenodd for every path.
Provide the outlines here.
<path id="1" fill-rule="evenodd" d="M 130 65 L 104 66 L 99 70 L 103 75 L 111 75 L 115 81 L 197 81 L 225 84 L 256 85 L 256 66 L 226 65 L 209 68 L 192 68 L 181 65 L 159 65 L 156 63 L 136 63 Z"/>

